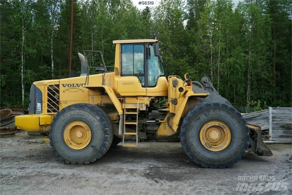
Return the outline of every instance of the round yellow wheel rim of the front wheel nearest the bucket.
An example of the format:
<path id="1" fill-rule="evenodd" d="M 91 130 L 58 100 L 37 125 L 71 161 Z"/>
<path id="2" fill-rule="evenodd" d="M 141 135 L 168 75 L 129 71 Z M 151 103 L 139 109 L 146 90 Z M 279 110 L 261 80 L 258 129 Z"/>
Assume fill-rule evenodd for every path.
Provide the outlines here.
<path id="1" fill-rule="evenodd" d="M 209 121 L 200 130 L 201 144 L 212 152 L 219 152 L 228 147 L 231 142 L 231 131 L 221 121 Z"/>

